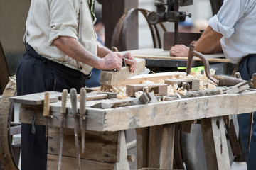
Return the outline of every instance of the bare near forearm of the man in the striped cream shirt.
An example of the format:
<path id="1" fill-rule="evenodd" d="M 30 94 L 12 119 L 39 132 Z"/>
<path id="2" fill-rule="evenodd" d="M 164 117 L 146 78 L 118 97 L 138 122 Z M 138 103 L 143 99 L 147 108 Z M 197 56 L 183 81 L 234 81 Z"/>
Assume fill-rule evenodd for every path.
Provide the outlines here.
<path id="1" fill-rule="evenodd" d="M 101 59 L 82 47 L 80 42 L 78 42 L 78 40 L 75 38 L 64 36 L 58 37 L 53 41 L 53 45 L 58 47 L 58 49 L 74 60 L 100 69 Z"/>

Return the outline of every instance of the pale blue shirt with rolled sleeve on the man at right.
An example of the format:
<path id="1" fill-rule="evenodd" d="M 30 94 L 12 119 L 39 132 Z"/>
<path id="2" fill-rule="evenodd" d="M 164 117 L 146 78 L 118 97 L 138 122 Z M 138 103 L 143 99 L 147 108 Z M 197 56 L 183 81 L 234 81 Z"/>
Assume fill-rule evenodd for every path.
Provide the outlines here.
<path id="1" fill-rule="evenodd" d="M 242 57 L 256 54 L 256 1 L 224 0 L 209 26 L 223 35 L 223 53 L 236 64 Z"/>

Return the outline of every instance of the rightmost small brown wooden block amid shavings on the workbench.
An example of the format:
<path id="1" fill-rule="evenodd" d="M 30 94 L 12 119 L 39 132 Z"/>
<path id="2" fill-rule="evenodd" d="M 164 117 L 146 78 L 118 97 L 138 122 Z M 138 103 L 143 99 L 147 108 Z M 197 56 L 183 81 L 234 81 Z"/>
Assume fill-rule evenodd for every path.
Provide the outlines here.
<path id="1" fill-rule="evenodd" d="M 199 79 L 192 79 L 192 80 L 188 80 L 188 79 L 171 79 L 171 80 L 165 80 L 164 83 L 168 84 L 171 86 L 174 86 L 174 84 L 177 84 L 178 87 L 182 87 L 182 82 L 186 82 L 189 84 L 190 89 L 189 91 L 198 91 L 200 89 L 200 80 Z"/>

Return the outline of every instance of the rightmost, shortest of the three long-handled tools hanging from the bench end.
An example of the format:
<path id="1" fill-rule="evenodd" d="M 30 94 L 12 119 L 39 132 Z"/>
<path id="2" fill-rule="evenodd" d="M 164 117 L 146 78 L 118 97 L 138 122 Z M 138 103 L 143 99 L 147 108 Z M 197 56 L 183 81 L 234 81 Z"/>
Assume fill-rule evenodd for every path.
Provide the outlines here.
<path id="1" fill-rule="evenodd" d="M 86 119 L 85 117 L 85 111 L 86 111 L 86 90 L 85 88 L 80 89 L 80 107 L 79 107 L 79 115 L 80 118 L 82 118 L 81 121 L 81 130 L 82 130 L 82 153 L 85 152 L 85 128 L 84 128 L 84 121 Z"/>

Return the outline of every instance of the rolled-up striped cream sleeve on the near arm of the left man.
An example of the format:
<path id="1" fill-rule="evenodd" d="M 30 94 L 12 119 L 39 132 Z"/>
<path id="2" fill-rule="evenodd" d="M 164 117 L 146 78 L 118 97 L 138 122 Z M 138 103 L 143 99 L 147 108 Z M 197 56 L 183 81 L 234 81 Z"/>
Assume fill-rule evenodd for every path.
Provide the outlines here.
<path id="1" fill-rule="evenodd" d="M 49 45 L 52 45 L 53 40 L 60 36 L 78 39 L 78 4 L 72 0 L 50 1 Z"/>

